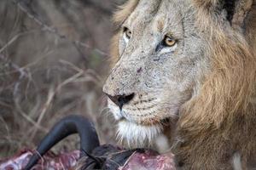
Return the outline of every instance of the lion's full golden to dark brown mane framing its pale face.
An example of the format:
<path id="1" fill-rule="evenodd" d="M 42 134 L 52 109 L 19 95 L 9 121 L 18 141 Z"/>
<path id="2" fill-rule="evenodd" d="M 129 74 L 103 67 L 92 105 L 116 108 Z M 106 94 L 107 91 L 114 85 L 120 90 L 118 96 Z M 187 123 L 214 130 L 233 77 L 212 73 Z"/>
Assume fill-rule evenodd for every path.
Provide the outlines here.
<path id="1" fill-rule="evenodd" d="M 131 0 L 120 8 L 113 17 L 116 26 L 138 2 Z M 193 1 L 198 28 L 208 42 L 204 50 L 212 63 L 211 72 L 201 82 L 201 93 L 183 105 L 177 123 L 177 135 L 185 141 L 175 150 L 177 159 L 192 164 L 193 169 L 201 165 L 212 169 L 218 162 L 229 161 L 225 156 L 236 151 L 244 168 L 249 158 L 256 158 L 256 0 L 242 1 L 231 25 L 214 13 L 218 2 Z M 113 64 L 119 59 L 118 38 L 112 40 Z"/>

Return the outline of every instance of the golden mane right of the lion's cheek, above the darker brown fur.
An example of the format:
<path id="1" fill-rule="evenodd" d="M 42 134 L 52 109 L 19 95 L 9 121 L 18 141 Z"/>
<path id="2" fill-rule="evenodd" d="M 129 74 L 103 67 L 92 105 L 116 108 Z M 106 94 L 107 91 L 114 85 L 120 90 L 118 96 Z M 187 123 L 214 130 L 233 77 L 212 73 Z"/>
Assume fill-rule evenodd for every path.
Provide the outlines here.
<path id="1" fill-rule="evenodd" d="M 236 114 L 255 114 L 256 1 L 253 1 L 252 17 L 247 18 L 252 24 L 247 26 L 245 33 L 215 20 L 205 6 L 214 2 L 195 1 L 198 25 L 201 31 L 209 31 L 205 35 L 209 35 L 207 53 L 212 72 L 205 77 L 201 94 L 183 107 L 182 127 L 191 128 L 198 122 L 202 126 L 213 123 L 214 127 L 219 127 L 225 120 L 233 122 Z"/>

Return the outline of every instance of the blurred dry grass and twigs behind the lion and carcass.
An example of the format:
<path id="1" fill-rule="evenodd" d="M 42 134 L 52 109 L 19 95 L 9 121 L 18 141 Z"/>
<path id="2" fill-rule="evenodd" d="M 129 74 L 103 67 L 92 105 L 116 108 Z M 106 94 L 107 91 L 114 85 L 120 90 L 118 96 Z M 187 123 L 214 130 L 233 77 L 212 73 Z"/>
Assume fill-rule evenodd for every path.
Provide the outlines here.
<path id="1" fill-rule="evenodd" d="M 35 149 L 63 116 L 96 124 L 115 143 L 102 85 L 113 11 L 125 0 L 0 1 L 0 159 Z M 54 151 L 79 148 L 74 135 Z"/>

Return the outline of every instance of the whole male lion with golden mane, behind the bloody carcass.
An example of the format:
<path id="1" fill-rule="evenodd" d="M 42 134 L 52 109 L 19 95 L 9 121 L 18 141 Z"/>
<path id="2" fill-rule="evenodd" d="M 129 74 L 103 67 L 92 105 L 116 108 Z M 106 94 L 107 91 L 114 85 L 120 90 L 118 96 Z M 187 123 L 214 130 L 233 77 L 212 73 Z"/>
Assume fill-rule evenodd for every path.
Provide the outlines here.
<path id="1" fill-rule="evenodd" d="M 113 22 L 103 92 L 122 144 L 256 167 L 256 0 L 128 0 Z"/>

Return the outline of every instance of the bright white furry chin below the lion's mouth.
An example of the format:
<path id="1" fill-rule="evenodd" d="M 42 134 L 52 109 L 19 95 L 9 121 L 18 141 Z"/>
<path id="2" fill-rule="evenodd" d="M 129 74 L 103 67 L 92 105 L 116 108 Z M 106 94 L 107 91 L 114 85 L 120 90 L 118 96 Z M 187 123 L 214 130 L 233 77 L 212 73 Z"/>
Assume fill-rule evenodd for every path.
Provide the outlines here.
<path id="1" fill-rule="evenodd" d="M 162 133 L 162 125 L 145 126 L 134 122 L 122 120 L 118 124 L 118 139 L 126 147 L 152 148 L 154 139 Z"/>

